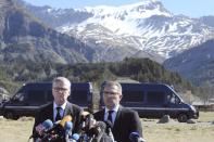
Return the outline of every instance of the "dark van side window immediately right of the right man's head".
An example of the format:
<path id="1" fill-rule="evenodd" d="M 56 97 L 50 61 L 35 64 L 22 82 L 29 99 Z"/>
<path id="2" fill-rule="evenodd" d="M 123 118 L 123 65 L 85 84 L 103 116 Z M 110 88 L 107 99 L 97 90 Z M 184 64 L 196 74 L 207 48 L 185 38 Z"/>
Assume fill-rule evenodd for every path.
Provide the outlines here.
<path id="1" fill-rule="evenodd" d="M 143 102 L 144 93 L 142 91 L 123 91 L 122 102 Z"/>

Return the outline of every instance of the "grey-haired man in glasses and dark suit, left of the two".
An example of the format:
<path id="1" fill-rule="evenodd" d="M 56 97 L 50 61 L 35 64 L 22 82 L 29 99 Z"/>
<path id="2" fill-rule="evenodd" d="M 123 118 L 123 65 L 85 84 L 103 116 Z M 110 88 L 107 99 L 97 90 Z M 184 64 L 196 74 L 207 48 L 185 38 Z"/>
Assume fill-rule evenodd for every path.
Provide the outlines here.
<path id="1" fill-rule="evenodd" d="M 67 98 L 71 94 L 71 86 L 70 80 L 65 77 L 56 77 L 53 80 L 52 94 L 54 101 L 43 107 L 36 116 L 33 133 L 37 133 L 39 131 L 38 126 L 45 120 L 50 119 L 54 122 L 61 120 L 66 115 L 72 116 L 72 122 L 74 125 L 73 132 L 78 131 L 81 108 L 67 101 Z"/>

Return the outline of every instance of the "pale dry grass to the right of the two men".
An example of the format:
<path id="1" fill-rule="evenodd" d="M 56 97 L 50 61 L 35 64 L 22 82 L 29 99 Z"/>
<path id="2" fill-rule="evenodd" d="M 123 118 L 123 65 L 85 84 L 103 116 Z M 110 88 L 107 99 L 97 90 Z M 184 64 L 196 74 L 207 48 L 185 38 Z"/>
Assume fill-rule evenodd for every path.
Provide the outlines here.
<path id="1" fill-rule="evenodd" d="M 158 120 L 143 122 L 143 134 L 148 142 L 213 142 L 214 113 L 200 113 L 197 124 L 173 121 L 156 124 Z"/>

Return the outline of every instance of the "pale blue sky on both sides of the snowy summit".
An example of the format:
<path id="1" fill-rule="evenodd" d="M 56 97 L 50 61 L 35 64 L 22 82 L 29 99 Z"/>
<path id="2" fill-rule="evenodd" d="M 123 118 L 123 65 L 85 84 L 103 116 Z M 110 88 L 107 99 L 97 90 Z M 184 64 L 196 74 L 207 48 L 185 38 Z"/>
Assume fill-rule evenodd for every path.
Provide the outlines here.
<path id="1" fill-rule="evenodd" d="M 53 8 L 84 8 L 86 5 L 121 5 L 141 0 L 25 0 L 35 5 L 51 5 Z M 214 0 L 160 0 L 174 14 L 190 17 L 214 15 Z"/>

